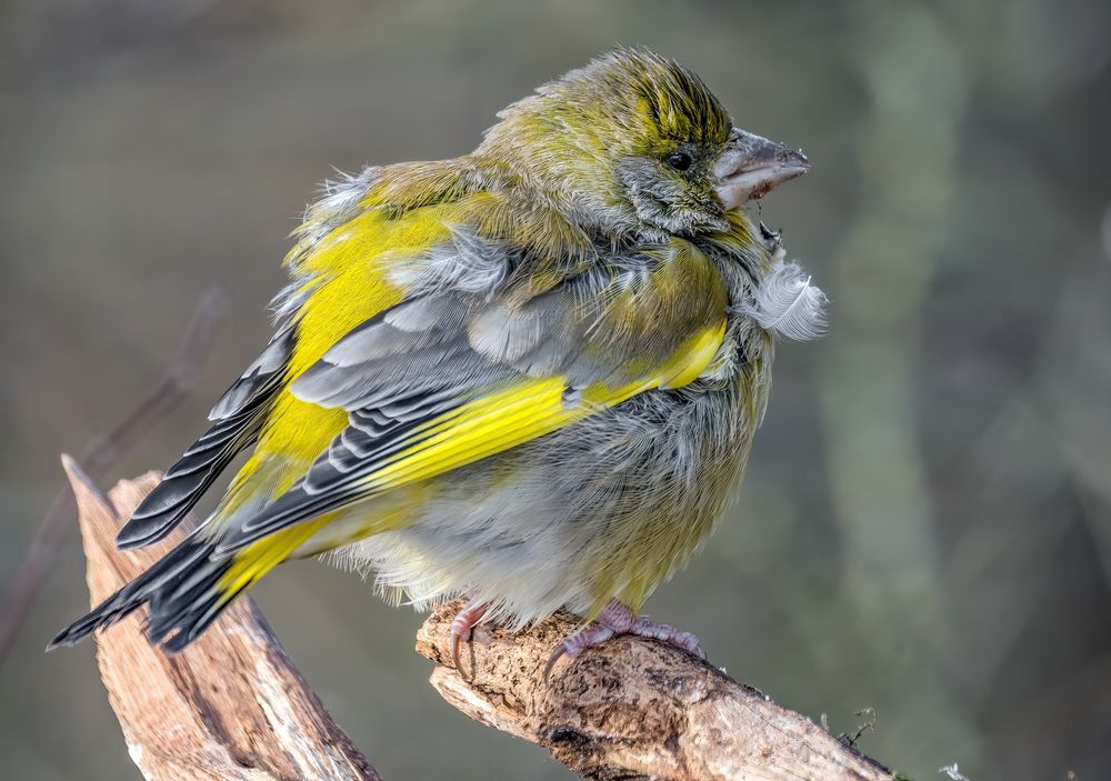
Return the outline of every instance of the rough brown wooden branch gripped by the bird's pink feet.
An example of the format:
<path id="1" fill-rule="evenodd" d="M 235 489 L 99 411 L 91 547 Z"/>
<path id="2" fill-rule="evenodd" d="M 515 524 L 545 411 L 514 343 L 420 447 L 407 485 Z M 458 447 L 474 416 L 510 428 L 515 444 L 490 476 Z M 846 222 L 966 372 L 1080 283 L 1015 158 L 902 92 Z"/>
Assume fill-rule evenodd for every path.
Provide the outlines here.
<path id="1" fill-rule="evenodd" d="M 894 781 L 887 768 L 810 719 L 677 649 L 620 638 L 542 670 L 575 628 L 561 613 L 513 635 L 480 624 L 466 647 L 464 680 L 451 661 L 450 627 L 462 607 L 429 617 L 417 652 L 432 687 L 472 719 L 543 745 L 593 779 L 813 779 Z"/>

